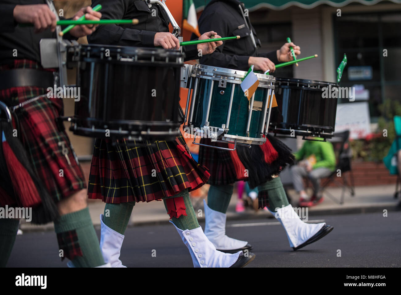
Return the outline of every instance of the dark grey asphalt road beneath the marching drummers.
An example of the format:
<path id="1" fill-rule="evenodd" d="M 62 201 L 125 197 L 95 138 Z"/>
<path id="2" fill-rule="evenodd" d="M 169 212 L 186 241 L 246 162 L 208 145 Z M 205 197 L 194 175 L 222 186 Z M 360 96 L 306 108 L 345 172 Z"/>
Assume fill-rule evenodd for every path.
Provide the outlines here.
<path id="1" fill-rule="evenodd" d="M 247 267 L 401 267 L 401 212 L 314 216 L 310 222 L 314 220 L 324 220 L 334 230 L 295 252 L 275 219 L 231 221 L 227 234 L 253 245 L 256 258 Z M 120 258 L 127 267 L 192 267 L 172 224 L 128 228 L 125 236 Z M 66 267 L 66 260 L 60 261 L 54 232 L 28 232 L 16 237 L 8 267 Z"/>

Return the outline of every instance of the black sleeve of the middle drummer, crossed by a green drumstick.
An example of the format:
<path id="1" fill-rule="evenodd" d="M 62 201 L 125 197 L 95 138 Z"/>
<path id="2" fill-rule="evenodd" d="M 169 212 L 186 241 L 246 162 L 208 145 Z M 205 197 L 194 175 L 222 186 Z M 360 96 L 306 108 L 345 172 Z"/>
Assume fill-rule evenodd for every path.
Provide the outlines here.
<path id="1" fill-rule="evenodd" d="M 92 0 L 92 7 L 102 5 L 102 19 L 124 19 L 129 0 Z M 101 25 L 89 35 L 89 43 L 122 46 L 153 46 L 156 32 L 122 28 L 116 24 Z"/>

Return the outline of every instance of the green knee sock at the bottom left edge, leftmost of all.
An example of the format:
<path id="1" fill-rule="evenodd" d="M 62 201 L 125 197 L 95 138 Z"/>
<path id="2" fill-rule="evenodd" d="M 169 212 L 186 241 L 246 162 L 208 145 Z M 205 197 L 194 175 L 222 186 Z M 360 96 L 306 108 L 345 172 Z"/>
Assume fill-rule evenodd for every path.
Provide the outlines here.
<path id="1" fill-rule="evenodd" d="M 0 267 L 6 267 L 18 231 L 18 219 L 0 219 Z"/>

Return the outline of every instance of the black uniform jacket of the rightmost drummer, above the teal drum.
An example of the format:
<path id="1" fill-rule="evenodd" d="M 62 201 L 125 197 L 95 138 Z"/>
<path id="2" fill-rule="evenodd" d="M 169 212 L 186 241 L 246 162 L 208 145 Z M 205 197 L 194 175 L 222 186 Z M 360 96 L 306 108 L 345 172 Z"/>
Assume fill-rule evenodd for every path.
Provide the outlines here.
<path id="1" fill-rule="evenodd" d="M 223 45 L 217 47 L 214 53 L 202 57 L 201 64 L 248 71 L 248 59 L 250 56 L 267 57 L 273 63 L 278 63 L 276 51 L 270 53 L 259 52 L 253 44 L 249 28 L 253 31 L 257 46 L 260 47 L 256 31 L 248 16 L 245 16 L 247 21 L 245 23 L 244 10 L 243 3 L 238 0 L 212 0 L 207 4 L 198 20 L 199 32 L 203 34 L 214 30 L 222 37 L 239 35 L 241 38 L 223 41 Z M 194 36 L 192 34 L 192 37 Z"/>

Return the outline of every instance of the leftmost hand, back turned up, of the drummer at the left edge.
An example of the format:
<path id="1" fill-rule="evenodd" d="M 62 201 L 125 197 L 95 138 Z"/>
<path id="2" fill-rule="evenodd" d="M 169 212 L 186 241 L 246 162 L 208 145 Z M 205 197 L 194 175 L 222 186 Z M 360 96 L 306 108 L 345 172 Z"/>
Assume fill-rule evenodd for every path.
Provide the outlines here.
<path id="1" fill-rule="evenodd" d="M 19 23 L 32 23 L 35 33 L 51 28 L 56 29 L 56 16 L 46 4 L 16 5 L 13 11 L 14 20 Z"/>

